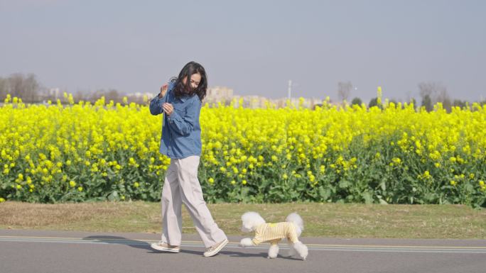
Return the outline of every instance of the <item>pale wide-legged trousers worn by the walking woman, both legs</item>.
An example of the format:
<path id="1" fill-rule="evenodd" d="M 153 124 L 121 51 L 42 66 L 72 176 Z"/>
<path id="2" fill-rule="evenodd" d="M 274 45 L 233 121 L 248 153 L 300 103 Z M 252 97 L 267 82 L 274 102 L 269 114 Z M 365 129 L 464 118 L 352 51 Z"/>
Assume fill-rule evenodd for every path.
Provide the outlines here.
<path id="1" fill-rule="evenodd" d="M 171 159 L 162 188 L 162 242 L 180 245 L 182 235 L 181 208 L 188 208 L 205 247 L 227 239 L 218 228 L 202 197 L 198 179 L 199 156 Z"/>

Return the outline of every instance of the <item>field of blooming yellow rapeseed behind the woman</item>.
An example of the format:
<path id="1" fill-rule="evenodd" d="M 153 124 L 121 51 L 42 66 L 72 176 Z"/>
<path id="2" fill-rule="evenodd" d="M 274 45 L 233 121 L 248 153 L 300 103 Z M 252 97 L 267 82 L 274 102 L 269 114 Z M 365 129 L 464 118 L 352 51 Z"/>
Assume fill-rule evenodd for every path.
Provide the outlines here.
<path id="1" fill-rule="evenodd" d="M 148 106 L 0 107 L 0 202 L 160 199 L 170 160 Z M 203 106 L 200 182 L 218 201 L 485 206 L 486 108 Z M 241 104 L 240 104 L 241 105 Z"/>

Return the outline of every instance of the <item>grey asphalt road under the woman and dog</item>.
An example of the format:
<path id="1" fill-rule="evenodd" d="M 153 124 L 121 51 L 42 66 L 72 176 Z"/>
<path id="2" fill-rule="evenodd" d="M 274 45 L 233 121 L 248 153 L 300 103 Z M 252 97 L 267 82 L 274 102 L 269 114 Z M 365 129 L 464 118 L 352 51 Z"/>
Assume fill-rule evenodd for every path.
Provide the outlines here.
<path id="1" fill-rule="evenodd" d="M 238 247 L 240 236 L 215 257 L 203 257 L 198 235 L 183 235 L 180 253 L 151 250 L 160 235 L 0 230 L 0 273 L 85 272 L 486 272 L 486 240 L 301 238 L 306 261 L 267 259 L 268 245 Z"/>

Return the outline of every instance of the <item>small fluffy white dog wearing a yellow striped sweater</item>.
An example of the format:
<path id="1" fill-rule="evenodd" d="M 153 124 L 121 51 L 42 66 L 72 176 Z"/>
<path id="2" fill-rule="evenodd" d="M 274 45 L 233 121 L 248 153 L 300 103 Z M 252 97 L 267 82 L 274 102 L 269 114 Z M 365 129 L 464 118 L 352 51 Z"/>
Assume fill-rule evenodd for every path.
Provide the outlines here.
<path id="1" fill-rule="evenodd" d="M 259 213 L 249 211 L 242 215 L 242 231 L 244 233 L 254 232 L 254 238 L 244 238 L 239 242 L 240 247 L 249 247 L 259 245 L 263 242 L 269 242 L 269 259 L 277 257 L 279 254 L 279 242 L 286 238 L 290 250 L 289 256 L 297 254 L 302 260 L 306 260 L 308 255 L 307 246 L 298 240 L 303 230 L 303 220 L 297 213 L 291 213 L 281 223 L 265 223 Z"/>

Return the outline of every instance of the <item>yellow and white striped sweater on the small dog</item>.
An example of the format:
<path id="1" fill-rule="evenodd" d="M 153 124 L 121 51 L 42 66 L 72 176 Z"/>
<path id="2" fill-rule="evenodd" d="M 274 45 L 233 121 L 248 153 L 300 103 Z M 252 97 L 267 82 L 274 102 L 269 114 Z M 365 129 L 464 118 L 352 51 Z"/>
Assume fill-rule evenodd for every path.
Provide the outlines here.
<path id="1" fill-rule="evenodd" d="M 263 242 L 269 242 L 272 245 L 276 245 L 283 238 L 287 238 L 291 243 L 298 242 L 296 226 L 293 225 L 293 223 L 281 222 L 261 224 L 255 228 L 255 237 L 252 242 L 254 245 L 259 245 Z"/>

